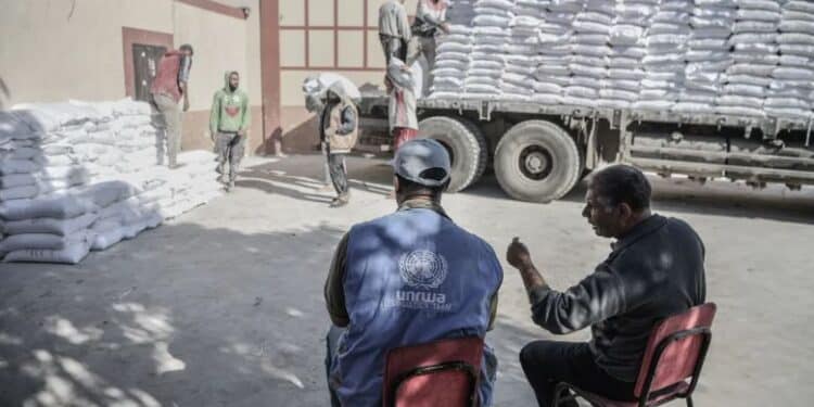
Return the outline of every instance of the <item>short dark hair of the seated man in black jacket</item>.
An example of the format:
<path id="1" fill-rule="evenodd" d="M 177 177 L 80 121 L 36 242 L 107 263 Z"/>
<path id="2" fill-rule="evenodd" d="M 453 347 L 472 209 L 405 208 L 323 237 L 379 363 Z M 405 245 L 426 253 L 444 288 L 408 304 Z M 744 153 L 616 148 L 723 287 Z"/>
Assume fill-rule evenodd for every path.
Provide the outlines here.
<path id="1" fill-rule="evenodd" d="M 610 206 L 626 203 L 635 212 L 650 207 L 650 182 L 641 170 L 629 165 L 600 169 L 590 177 L 589 188 Z"/>

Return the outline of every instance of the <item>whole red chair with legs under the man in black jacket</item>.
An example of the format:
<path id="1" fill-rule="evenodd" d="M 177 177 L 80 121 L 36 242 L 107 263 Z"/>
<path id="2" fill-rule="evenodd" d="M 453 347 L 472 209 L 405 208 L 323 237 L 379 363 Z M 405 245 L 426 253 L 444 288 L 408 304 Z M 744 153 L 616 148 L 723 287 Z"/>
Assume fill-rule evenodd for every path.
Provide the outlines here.
<path id="1" fill-rule="evenodd" d="M 559 383 L 554 406 L 581 397 L 596 407 L 652 407 L 685 398 L 692 407 L 692 392 L 712 340 L 715 304 L 707 303 L 664 319 L 653 328 L 641 359 L 634 402 L 619 402 Z M 690 379 L 689 382 L 687 380 Z M 570 390 L 575 396 L 562 397 Z"/>

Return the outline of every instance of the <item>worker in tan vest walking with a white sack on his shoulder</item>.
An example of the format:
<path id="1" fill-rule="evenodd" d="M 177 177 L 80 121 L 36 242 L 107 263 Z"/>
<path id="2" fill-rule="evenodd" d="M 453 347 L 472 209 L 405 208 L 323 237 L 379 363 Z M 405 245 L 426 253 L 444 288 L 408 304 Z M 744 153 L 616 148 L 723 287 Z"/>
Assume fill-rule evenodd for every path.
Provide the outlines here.
<path id="1" fill-rule="evenodd" d="M 358 139 L 359 113 L 341 84 L 326 91 L 325 109 L 319 119 L 319 139 L 325 145 L 328 169 L 336 198 L 331 207 L 344 206 L 351 199 L 345 156 Z"/>

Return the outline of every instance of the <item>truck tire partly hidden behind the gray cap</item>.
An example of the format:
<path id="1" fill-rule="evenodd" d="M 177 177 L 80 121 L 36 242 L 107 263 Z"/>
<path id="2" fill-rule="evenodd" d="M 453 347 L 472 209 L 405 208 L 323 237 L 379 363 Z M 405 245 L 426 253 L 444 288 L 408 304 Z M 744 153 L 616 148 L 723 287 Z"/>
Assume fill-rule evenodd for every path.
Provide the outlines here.
<path id="1" fill-rule="evenodd" d="M 447 192 L 458 192 L 474 183 L 486 170 L 486 138 L 471 122 L 446 116 L 429 117 L 418 125 L 419 137 L 433 139 L 447 149 L 453 164 Z"/>

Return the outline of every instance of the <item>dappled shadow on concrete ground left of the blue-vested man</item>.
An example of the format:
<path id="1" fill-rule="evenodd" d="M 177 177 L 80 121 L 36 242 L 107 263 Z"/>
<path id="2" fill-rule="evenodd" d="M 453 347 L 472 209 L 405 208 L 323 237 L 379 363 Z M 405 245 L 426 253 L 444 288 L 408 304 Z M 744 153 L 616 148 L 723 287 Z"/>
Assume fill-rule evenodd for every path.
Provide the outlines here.
<path id="1" fill-rule="evenodd" d="M 169 224 L 81 266 L 2 265 L 0 405 L 327 404 L 314 355 L 342 232 Z"/>

